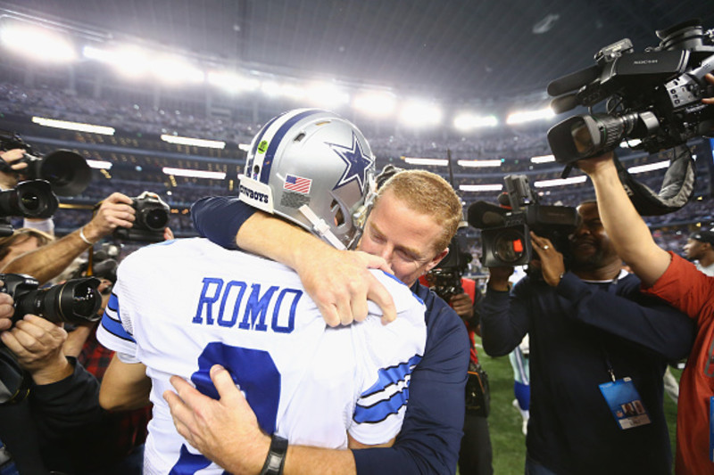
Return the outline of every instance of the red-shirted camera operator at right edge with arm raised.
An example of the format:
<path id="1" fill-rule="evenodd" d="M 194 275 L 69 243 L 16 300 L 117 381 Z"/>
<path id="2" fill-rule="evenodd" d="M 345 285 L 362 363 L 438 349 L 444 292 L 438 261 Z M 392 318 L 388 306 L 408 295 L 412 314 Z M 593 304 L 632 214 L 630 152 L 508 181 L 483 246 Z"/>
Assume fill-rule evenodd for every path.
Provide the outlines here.
<path id="1" fill-rule="evenodd" d="M 712 74 L 706 79 L 714 84 Z M 714 98 L 702 102 L 714 104 Z M 611 152 L 579 160 L 577 167 L 593 180 L 605 229 L 619 255 L 642 279 L 644 291 L 671 303 L 696 323 L 694 347 L 679 381 L 677 474 L 714 473 L 710 459 L 714 280 L 657 246 L 619 181 Z"/>

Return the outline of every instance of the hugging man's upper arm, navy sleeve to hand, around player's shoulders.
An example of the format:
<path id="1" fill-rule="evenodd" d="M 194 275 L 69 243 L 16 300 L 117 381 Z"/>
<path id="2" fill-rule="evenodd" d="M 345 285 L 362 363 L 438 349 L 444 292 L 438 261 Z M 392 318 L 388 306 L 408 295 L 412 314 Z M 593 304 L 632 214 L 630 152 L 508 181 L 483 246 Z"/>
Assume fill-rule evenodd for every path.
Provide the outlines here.
<path id="1" fill-rule="evenodd" d="M 392 297 L 368 270 L 389 272 L 384 259 L 336 250 L 295 225 L 246 208 L 236 198 L 204 198 L 195 202 L 191 216 L 199 233 L 212 242 L 235 249 L 228 239 L 235 236 L 241 249 L 295 269 L 328 325 L 364 320 L 368 299 L 382 308 L 385 322 L 394 320 Z"/>

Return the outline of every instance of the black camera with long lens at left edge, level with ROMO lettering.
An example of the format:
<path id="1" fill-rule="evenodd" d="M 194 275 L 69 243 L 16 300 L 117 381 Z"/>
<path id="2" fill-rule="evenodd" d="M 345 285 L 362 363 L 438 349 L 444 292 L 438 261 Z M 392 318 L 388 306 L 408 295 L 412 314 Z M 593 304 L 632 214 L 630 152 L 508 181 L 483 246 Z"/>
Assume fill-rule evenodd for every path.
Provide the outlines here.
<path id="1" fill-rule="evenodd" d="M 38 315 L 54 323 L 88 323 L 99 319 L 96 311 L 102 297 L 96 290 L 99 279 L 89 277 L 37 289 L 37 280 L 25 274 L 0 274 L 0 289 L 15 301 L 12 323 L 26 314 Z"/>

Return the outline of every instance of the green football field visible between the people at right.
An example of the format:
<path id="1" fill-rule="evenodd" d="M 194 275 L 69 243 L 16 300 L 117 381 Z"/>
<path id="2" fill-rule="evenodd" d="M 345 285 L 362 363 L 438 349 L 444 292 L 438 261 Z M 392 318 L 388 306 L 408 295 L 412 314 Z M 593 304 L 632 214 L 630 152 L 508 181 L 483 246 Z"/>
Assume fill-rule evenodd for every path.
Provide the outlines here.
<path id="1" fill-rule="evenodd" d="M 477 341 L 477 344 L 480 342 Z M 486 368 L 491 385 L 491 414 L 488 425 L 491 430 L 491 444 L 494 447 L 495 475 L 522 475 L 526 460 L 526 438 L 521 432 L 522 419 L 513 407 L 513 371 L 508 356 L 492 358 L 478 348 L 478 358 Z M 677 380 L 681 371 L 672 370 Z M 665 414 L 669 425 L 672 452 L 675 446 L 675 426 L 677 406 L 665 396 Z M 457 471 L 458 473 L 458 471 Z"/>

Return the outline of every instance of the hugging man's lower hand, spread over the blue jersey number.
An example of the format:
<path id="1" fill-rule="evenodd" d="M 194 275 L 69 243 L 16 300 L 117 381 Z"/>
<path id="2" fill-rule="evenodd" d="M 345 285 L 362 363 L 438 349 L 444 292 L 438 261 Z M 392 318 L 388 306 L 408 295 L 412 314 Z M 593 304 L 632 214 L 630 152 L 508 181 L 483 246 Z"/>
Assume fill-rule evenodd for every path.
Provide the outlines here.
<path id="1" fill-rule="evenodd" d="M 176 430 L 223 469 L 235 474 L 260 472 L 270 437 L 262 432 L 253 409 L 228 371 L 214 365 L 211 380 L 218 389 L 218 400 L 204 396 L 182 378 L 171 376 L 176 393 L 164 391 L 163 398 L 169 403 Z"/>

